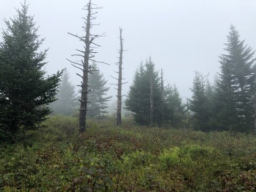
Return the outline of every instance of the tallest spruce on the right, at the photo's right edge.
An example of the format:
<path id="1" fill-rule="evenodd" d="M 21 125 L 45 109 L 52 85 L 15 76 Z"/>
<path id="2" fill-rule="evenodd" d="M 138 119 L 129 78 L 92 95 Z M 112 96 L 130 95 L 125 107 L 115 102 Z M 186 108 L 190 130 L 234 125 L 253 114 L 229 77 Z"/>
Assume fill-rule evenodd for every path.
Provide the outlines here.
<path id="1" fill-rule="evenodd" d="M 254 128 L 254 51 L 239 40 L 233 25 L 227 37 L 227 54 L 222 54 L 219 61 L 215 122 L 220 130 L 250 132 Z"/>

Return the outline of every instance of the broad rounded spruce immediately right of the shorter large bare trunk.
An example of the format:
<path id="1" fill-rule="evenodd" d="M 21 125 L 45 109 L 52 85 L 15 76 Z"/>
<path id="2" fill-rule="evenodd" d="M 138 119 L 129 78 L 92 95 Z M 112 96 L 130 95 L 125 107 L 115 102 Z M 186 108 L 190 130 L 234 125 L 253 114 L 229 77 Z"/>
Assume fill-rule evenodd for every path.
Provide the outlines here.
<path id="1" fill-rule="evenodd" d="M 150 78 L 153 79 L 153 116 L 154 122 L 161 122 L 161 81 L 154 62 L 149 58 L 145 65 L 141 62 L 135 72 L 133 84 L 125 101 L 126 109 L 132 111 L 135 121 L 150 124 Z"/>

